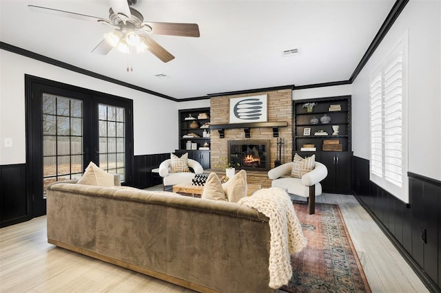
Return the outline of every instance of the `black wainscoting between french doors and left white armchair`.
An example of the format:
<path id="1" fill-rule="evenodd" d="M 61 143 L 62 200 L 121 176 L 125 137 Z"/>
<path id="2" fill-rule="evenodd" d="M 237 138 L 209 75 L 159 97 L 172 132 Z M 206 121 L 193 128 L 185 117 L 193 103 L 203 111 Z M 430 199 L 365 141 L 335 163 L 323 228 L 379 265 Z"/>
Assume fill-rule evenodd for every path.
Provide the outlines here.
<path id="1" fill-rule="evenodd" d="M 162 178 L 152 174 L 152 169 L 158 168 L 161 162 L 170 159 L 170 153 L 134 156 L 134 180 L 136 188 L 147 188 L 163 183 Z"/>

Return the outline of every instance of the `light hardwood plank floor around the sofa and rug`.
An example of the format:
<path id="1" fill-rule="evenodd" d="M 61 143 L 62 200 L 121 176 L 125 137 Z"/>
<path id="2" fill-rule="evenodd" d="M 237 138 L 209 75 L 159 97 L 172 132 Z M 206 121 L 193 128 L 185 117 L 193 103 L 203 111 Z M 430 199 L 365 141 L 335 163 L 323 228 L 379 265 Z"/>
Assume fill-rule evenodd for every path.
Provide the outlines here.
<path id="1" fill-rule="evenodd" d="M 372 292 L 428 292 L 353 196 L 325 194 L 317 202 L 340 206 Z M 52 246 L 45 224 L 38 217 L 0 229 L 0 292 L 192 292 Z"/>

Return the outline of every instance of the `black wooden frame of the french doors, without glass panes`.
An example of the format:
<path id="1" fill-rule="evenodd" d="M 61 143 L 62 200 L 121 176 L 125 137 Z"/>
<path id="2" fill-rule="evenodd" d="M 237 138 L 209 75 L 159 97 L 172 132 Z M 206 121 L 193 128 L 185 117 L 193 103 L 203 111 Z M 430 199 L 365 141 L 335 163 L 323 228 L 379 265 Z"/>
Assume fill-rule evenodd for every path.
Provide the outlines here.
<path id="1" fill-rule="evenodd" d="M 40 78 L 37 76 L 31 76 L 25 74 L 25 125 L 26 125 L 26 163 L 25 163 L 25 174 L 26 174 L 26 196 L 27 196 L 27 215 L 28 219 L 32 219 L 33 217 L 39 217 L 41 215 L 45 215 L 46 213 L 46 202 L 45 199 L 41 197 L 34 197 L 34 186 L 32 184 L 32 175 L 36 174 L 42 177 L 41 171 L 34 171 L 35 166 L 42 166 L 42 162 L 34 162 L 34 152 L 37 151 L 41 153 L 41 145 L 34 145 L 34 133 L 32 133 L 32 124 L 37 123 L 41 124 L 41 111 L 35 111 L 33 107 L 33 94 L 39 92 L 41 95 L 41 90 L 45 91 L 47 94 L 55 94 L 55 95 L 65 95 L 67 91 L 72 98 L 78 98 L 83 100 L 84 105 L 84 126 L 83 131 L 84 134 L 90 135 L 92 138 L 92 144 L 97 145 L 98 141 L 98 121 L 94 122 L 94 118 L 96 117 L 96 113 L 94 113 L 94 109 L 98 111 L 98 104 L 104 103 L 108 105 L 115 105 L 118 107 L 124 107 L 126 111 L 126 119 L 125 119 L 125 152 L 126 152 L 126 178 L 125 184 L 132 184 L 133 177 L 133 162 L 134 162 L 134 154 L 133 154 L 133 100 L 128 98 L 121 98 L 119 96 L 113 96 L 110 94 L 101 93 L 99 91 L 93 91 L 91 89 L 84 89 L 82 87 L 76 87 L 74 85 L 68 85 L 65 83 L 59 83 L 54 80 L 48 80 L 45 78 Z M 39 100 L 39 97 L 37 97 Z M 88 98 L 90 98 L 90 102 L 87 102 Z M 86 101 L 84 103 L 84 101 Z M 38 114 L 38 115 L 37 115 Z M 39 133 L 39 137 L 41 138 L 41 133 Z M 37 135 L 37 134 L 36 134 Z M 94 136 L 96 138 L 94 138 Z M 92 146 L 84 146 L 85 153 L 85 162 L 93 161 L 96 164 L 96 156 L 93 153 Z"/>

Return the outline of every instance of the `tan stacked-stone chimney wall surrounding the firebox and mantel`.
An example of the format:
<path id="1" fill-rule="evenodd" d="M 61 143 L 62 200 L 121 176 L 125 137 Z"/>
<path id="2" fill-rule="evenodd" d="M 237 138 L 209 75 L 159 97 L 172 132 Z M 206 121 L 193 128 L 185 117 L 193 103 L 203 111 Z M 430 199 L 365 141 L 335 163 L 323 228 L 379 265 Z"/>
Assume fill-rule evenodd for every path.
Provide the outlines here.
<path id="1" fill-rule="evenodd" d="M 292 90 L 274 89 L 268 91 L 260 91 L 249 94 L 236 94 L 225 96 L 214 96 L 210 98 L 210 118 L 211 124 L 228 124 L 229 123 L 229 99 L 244 96 L 257 96 L 267 94 L 267 121 L 280 122 L 286 121 L 286 127 L 278 128 L 278 138 L 285 139 L 285 153 L 281 155 L 282 162 L 291 162 L 292 160 Z M 216 129 L 210 130 L 210 162 L 212 169 L 222 165 L 225 159 L 228 160 L 228 141 L 245 141 L 267 140 L 269 141 L 269 149 L 267 149 L 267 159 L 265 159 L 265 167 L 256 170 L 249 166 L 247 169 L 247 181 L 249 183 L 261 184 L 263 187 L 271 186 L 271 180 L 268 179 L 267 170 L 274 168 L 274 160 L 278 159 L 277 138 L 273 135 L 271 127 L 256 127 L 249 129 L 249 138 L 245 138 L 243 128 L 225 129 L 224 138 L 220 138 Z M 269 153 L 269 155 L 268 155 Z M 253 163 L 255 164 L 255 163 Z M 267 166 L 269 164 L 269 167 Z M 240 168 L 243 164 L 240 163 Z M 219 168 L 219 167 L 217 167 Z"/>

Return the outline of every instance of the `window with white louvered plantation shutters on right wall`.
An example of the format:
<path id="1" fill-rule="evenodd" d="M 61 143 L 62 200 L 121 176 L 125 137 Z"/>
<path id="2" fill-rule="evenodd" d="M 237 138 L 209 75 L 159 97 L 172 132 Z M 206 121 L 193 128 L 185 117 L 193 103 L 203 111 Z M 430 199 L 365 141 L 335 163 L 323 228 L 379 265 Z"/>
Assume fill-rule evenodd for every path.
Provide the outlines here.
<path id="1" fill-rule="evenodd" d="M 369 80 L 370 179 L 403 202 L 407 186 L 407 35 Z"/>

